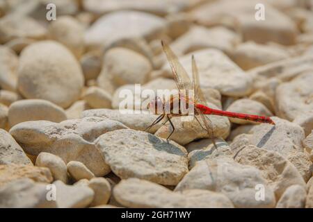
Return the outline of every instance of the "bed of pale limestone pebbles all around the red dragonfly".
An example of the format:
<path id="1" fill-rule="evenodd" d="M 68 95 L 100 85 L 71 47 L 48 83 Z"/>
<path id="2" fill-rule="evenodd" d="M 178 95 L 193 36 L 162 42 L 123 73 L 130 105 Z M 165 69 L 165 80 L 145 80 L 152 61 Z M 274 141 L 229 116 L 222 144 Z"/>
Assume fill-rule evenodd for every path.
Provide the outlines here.
<path id="1" fill-rule="evenodd" d="M 120 92 L 175 89 L 161 39 L 207 105 L 276 125 L 145 132 Z M 0 207 L 313 207 L 312 0 L 1 0 L 0 43 Z"/>

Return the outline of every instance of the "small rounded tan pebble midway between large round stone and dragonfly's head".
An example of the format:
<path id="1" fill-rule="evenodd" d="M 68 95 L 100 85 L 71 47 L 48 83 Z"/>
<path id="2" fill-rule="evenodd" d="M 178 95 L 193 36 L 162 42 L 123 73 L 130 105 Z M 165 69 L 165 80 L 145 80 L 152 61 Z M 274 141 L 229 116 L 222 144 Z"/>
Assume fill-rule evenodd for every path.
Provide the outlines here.
<path id="1" fill-rule="evenodd" d="M 112 96 L 100 87 L 88 87 L 83 93 L 83 100 L 93 109 L 111 108 Z"/>

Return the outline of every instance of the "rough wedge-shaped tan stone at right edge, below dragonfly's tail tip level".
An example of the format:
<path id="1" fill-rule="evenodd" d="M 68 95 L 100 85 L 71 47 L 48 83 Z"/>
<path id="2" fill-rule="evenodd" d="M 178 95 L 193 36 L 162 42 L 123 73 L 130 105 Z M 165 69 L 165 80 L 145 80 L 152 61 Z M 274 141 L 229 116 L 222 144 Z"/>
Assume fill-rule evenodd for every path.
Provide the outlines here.
<path id="1" fill-rule="evenodd" d="M 287 160 L 294 164 L 305 182 L 307 182 L 312 177 L 313 163 L 310 160 L 309 153 L 307 153 L 306 151 L 294 151 L 287 155 Z"/>

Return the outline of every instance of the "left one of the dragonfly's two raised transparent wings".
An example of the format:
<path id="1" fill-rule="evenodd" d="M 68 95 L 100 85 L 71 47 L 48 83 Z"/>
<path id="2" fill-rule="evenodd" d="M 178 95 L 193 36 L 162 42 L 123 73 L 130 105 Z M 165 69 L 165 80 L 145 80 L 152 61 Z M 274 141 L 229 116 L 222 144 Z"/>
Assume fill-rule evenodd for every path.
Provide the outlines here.
<path id="1" fill-rule="evenodd" d="M 168 62 L 170 63 L 172 74 L 175 76 L 175 82 L 178 89 L 193 89 L 193 84 L 191 84 L 191 80 L 186 70 L 180 64 L 175 53 L 172 52 L 170 46 L 168 46 L 165 42 L 161 41 L 161 44 L 163 46 L 163 51 L 166 54 L 166 58 L 168 58 Z"/>

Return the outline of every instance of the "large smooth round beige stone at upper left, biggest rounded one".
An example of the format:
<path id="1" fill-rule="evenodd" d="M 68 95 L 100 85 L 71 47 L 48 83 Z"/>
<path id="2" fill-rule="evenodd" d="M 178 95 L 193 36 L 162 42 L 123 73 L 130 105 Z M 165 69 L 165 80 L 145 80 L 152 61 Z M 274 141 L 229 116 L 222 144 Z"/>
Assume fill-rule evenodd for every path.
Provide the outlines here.
<path id="1" fill-rule="evenodd" d="M 36 42 L 20 55 L 17 86 L 26 99 L 45 99 L 67 108 L 79 99 L 83 74 L 65 46 L 50 40 Z"/>

